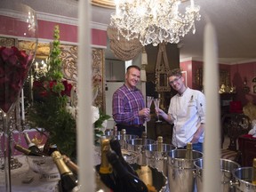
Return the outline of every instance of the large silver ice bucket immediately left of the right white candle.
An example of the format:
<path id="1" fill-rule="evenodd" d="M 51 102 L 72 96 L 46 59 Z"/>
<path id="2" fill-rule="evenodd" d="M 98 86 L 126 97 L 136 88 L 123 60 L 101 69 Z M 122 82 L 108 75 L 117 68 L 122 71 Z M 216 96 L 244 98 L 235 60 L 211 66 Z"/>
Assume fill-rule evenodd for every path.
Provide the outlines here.
<path id="1" fill-rule="evenodd" d="M 186 149 L 174 149 L 168 154 L 168 180 L 170 191 L 193 192 L 195 188 L 194 162 L 203 158 L 203 153 L 192 150 L 192 158 L 186 159 Z"/>

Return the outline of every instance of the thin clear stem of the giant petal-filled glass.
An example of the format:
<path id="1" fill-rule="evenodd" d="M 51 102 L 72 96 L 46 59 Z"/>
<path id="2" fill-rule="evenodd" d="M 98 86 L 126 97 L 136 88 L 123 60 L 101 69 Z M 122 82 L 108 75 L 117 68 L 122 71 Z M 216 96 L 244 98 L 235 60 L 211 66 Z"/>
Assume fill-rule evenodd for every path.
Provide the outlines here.
<path id="1" fill-rule="evenodd" d="M 11 157 L 12 157 L 12 140 L 10 131 L 10 116 L 3 113 L 4 120 L 4 173 L 5 173 L 5 191 L 12 191 L 11 183 Z"/>

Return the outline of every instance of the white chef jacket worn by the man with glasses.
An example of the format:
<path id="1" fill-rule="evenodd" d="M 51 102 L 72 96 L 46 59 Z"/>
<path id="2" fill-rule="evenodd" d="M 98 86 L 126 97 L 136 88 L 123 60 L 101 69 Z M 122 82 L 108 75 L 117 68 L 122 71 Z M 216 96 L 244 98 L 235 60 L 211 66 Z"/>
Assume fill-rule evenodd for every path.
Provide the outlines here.
<path id="1" fill-rule="evenodd" d="M 168 114 L 172 116 L 172 144 L 185 147 L 193 139 L 200 124 L 205 123 L 205 96 L 203 92 L 187 88 L 182 95 L 172 97 Z M 199 142 L 204 142 L 204 132 Z"/>

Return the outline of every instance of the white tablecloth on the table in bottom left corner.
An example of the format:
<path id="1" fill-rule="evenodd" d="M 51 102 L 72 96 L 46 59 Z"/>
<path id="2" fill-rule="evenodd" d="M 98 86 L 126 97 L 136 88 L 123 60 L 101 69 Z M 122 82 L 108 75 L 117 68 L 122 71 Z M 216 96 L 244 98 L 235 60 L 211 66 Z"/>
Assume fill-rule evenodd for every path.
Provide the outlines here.
<path id="1" fill-rule="evenodd" d="M 40 179 L 40 175 L 29 169 L 26 156 L 15 156 L 18 157 L 19 162 L 22 166 L 18 169 L 11 171 L 12 175 L 12 192 L 57 192 L 58 181 L 44 181 Z M 32 176 L 34 180 L 30 183 L 23 183 L 22 180 L 26 180 Z M 4 186 L 4 171 L 0 171 L 0 191 L 5 191 Z"/>

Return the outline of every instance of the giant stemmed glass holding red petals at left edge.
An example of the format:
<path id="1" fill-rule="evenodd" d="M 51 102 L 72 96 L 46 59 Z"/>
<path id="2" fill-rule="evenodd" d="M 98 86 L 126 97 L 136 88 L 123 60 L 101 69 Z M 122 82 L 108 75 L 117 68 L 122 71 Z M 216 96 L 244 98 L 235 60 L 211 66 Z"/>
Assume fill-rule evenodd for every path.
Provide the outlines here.
<path id="1" fill-rule="evenodd" d="M 4 123 L 4 183 L 5 191 L 10 192 L 13 131 L 11 114 L 35 57 L 38 31 L 36 12 L 25 4 L 2 0 L 0 20 L 0 111 Z M 22 44 L 16 43 L 15 36 L 31 45 L 22 48 Z"/>

